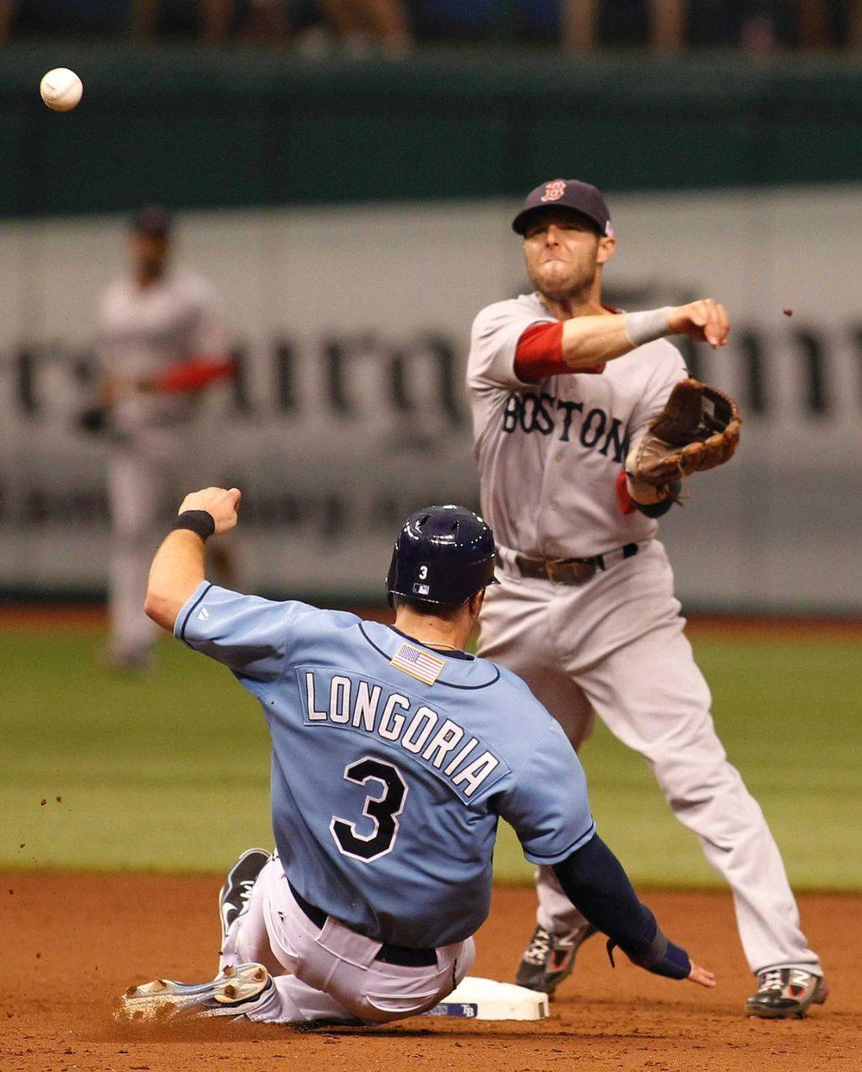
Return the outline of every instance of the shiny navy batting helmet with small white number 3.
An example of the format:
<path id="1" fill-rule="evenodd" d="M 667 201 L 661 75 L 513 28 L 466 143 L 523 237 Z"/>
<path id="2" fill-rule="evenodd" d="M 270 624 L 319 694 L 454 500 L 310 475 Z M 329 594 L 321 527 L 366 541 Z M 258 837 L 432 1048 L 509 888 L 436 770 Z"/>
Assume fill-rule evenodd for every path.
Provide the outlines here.
<path id="1" fill-rule="evenodd" d="M 423 602 L 460 607 L 494 577 L 491 526 L 463 506 L 427 506 L 411 513 L 398 534 L 386 591 Z"/>

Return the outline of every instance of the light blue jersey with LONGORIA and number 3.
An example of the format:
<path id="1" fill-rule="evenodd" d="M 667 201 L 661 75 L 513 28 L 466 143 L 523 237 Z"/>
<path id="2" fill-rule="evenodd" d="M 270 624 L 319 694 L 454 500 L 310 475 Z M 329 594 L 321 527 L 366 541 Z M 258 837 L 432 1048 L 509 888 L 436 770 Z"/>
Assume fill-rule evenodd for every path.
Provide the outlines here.
<path id="1" fill-rule="evenodd" d="M 563 731 L 493 662 L 206 581 L 175 635 L 229 667 L 264 709 L 288 881 L 368 937 L 432 949 L 474 934 L 501 817 L 537 864 L 595 833 Z"/>

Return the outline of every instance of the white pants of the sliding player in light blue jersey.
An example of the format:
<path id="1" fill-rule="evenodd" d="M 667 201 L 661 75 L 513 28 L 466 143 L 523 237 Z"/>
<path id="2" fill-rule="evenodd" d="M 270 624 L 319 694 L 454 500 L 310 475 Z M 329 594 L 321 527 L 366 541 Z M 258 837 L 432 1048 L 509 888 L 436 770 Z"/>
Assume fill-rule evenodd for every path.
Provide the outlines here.
<path id="1" fill-rule="evenodd" d="M 280 861 L 272 858 L 227 932 L 219 967 L 256 962 L 270 971 L 274 992 L 247 1014 L 250 1019 L 386 1024 L 442 1001 L 467 973 L 475 955 L 472 938 L 441 947 L 437 963 L 428 967 L 384 964 L 375 959 L 380 949 L 380 942 L 331 917 L 323 929 L 315 926 L 294 899 Z"/>

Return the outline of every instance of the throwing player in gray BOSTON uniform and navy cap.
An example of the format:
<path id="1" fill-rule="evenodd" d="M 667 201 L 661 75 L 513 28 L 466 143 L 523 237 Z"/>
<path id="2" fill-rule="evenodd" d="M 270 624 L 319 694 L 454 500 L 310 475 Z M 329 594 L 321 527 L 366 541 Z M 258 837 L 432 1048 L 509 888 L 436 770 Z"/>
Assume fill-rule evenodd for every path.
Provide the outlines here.
<path id="1" fill-rule="evenodd" d="M 484 309 L 467 387 L 482 512 L 502 584 L 489 591 L 479 653 L 519 674 L 578 748 L 594 713 L 652 766 L 677 817 L 733 893 L 757 976 L 749 1015 L 802 1015 L 827 986 L 777 846 L 727 761 L 673 595 L 656 519 L 679 487 L 626 476 L 625 462 L 687 376 L 667 337 L 724 345 L 711 299 L 621 313 L 601 302 L 615 239 L 595 187 L 556 179 L 514 221 L 535 291 Z M 593 933 L 549 867 L 518 982 L 552 993 Z"/>

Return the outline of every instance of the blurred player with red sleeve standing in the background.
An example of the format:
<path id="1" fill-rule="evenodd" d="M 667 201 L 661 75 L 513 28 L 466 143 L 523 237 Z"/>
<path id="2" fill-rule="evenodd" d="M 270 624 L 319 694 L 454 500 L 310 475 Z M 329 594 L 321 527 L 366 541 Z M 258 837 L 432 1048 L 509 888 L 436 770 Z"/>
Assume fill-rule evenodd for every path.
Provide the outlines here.
<path id="1" fill-rule="evenodd" d="M 123 670 L 146 668 L 158 634 L 143 611 L 147 571 L 165 490 L 194 446 L 188 422 L 195 397 L 234 374 L 209 285 L 174 269 L 170 257 L 169 217 L 158 207 L 142 209 L 129 235 L 129 270 L 110 284 L 99 310 L 99 422 L 110 442 L 107 660 Z"/>

